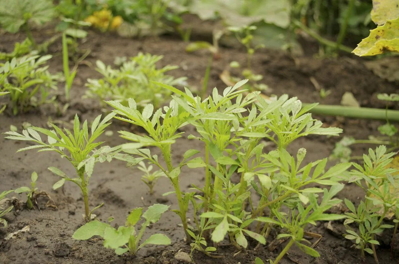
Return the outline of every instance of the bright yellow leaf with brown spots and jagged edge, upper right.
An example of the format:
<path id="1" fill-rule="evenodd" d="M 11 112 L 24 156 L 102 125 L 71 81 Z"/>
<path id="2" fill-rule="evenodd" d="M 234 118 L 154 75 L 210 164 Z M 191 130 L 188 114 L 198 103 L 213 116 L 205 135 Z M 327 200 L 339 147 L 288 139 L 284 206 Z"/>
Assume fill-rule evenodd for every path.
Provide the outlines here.
<path id="1" fill-rule="evenodd" d="M 399 52 L 399 18 L 388 20 L 383 26 L 370 31 L 354 51 L 358 56 L 372 56 L 385 51 Z"/>

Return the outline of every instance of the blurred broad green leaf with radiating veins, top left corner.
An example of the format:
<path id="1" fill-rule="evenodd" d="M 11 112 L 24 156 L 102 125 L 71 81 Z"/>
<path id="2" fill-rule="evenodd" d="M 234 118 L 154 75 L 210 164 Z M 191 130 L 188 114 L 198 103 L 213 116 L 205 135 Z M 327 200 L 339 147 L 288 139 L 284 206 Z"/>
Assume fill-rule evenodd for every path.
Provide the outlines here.
<path id="1" fill-rule="evenodd" d="M 51 0 L 0 0 L 0 24 L 16 33 L 26 21 L 44 24 L 55 15 Z"/>

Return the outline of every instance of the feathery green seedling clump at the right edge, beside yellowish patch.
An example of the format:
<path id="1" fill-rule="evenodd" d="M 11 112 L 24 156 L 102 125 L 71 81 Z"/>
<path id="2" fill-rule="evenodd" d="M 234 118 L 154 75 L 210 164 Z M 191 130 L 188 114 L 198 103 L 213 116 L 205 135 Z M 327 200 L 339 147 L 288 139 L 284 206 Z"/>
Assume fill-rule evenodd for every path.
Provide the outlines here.
<path id="1" fill-rule="evenodd" d="M 387 213 L 395 213 L 399 208 L 399 177 L 394 175 L 397 169 L 389 166 L 395 153 L 386 153 L 385 146 L 379 146 L 373 151 L 369 149 L 369 155 L 363 155 L 364 165 L 354 164 L 349 182 L 355 182 L 365 191 L 365 199 L 356 209 L 351 201 L 345 199 L 345 204 L 350 210 L 345 225 L 345 238 L 354 240 L 356 248 L 373 254 L 369 247 L 379 244 L 374 239 L 375 234 L 393 225 L 383 225 L 382 221 Z M 351 226 L 355 225 L 358 229 Z M 376 256 L 375 256 L 376 257 Z"/>

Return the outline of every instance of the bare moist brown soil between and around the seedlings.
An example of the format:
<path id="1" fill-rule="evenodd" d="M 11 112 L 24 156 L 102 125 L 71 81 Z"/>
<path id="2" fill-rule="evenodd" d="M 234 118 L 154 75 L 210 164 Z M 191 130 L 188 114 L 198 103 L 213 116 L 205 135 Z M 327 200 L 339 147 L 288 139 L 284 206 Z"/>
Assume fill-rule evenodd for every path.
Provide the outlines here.
<path id="1" fill-rule="evenodd" d="M 40 42 L 53 35 L 51 30 L 34 32 L 34 37 Z M 0 50 L 10 52 L 16 41 L 24 39 L 24 35 L 3 34 L 0 41 Z M 132 57 L 138 52 L 164 55 L 159 61 L 159 66 L 168 64 L 178 65 L 180 68 L 171 71 L 175 77 L 188 77 L 188 86 L 191 89 L 201 87 L 201 80 L 205 73 L 209 55 L 205 51 L 186 53 L 184 51 L 187 43 L 174 36 L 159 38 L 127 39 L 113 34 L 89 32 L 87 40 L 79 45 L 81 49 L 91 49 L 90 55 L 79 65 L 77 77 L 71 90 L 69 108 L 62 115 L 57 115 L 52 106 L 43 106 L 38 110 L 27 114 L 13 116 L 7 112 L 0 115 L 0 132 L 10 130 L 10 125 L 17 126 L 22 130 L 23 122 L 30 122 L 34 126 L 47 127 L 47 122 L 55 122 L 59 126 L 71 127 L 71 120 L 75 114 L 81 119 L 94 120 L 95 116 L 104 112 L 101 104 L 93 99 L 82 99 L 85 94 L 85 82 L 87 78 L 99 77 L 95 71 L 95 61 L 100 59 L 106 64 L 113 64 L 115 57 Z M 314 45 L 308 43 L 307 45 Z M 375 76 L 368 70 L 364 61 L 356 57 L 338 57 L 336 59 L 316 58 L 312 49 L 309 54 L 302 57 L 292 57 L 284 51 L 261 50 L 256 53 L 253 59 L 255 73 L 264 76 L 263 82 L 271 89 L 268 94 L 288 94 L 296 96 L 302 102 L 320 102 L 322 104 L 340 104 L 342 95 L 352 92 L 361 106 L 384 108 L 376 100 L 377 93 L 392 93 L 397 91 L 397 84 L 389 83 Z M 57 41 L 49 47 L 49 53 L 53 58 L 49 61 L 51 72 L 62 71 L 61 43 Z M 209 79 L 209 91 L 218 87 L 224 89 L 226 85 L 220 80 L 219 74 L 226 69 L 231 61 L 238 61 L 245 65 L 246 53 L 240 49 L 221 48 L 220 58 L 214 60 Z M 71 63 L 72 66 L 72 63 Z M 238 73 L 238 72 L 237 72 Z M 320 99 L 315 89 L 316 83 L 331 94 L 325 99 Z M 320 88 L 319 87 L 319 88 Z M 63 97 L 63 85 L 59 85 L 58 100 L 65 103 Z M 342 136 L 353 136 L 357 139 L 366 139 L 369 135 L 378 135 L 377 127 L 383 122 L 373 120 L 353 120 L 344 118 L 318 116 L 327 126 L 339 126 L 344 129 Z M 118 136 L 119 130 L 134 130 L 134 128 L 118 121 L 107 129 L 113 131 L 113 136 L 102 136 L 101 140 L 106 141 L 110 146 L 117 146 L 124 143 Z M 188 128 L 187 135 L 195 133 L 193 128 Z M 296 140 L 289 150 L 293 153 L 299 148 L 307 149 L 307 156 L 304 162 L 315 161 L 328 157 L 334 148 L 334 144 L 341 137 L 304 137 Z M 39 264 L 39 263 L 62 263 L 62 264 L 176 264 L 179 262 L 174 256 L 182 250 L 190 253 L 190 246 L 184 241 L 184 232 L 179 225 L 180 219 L 173 212 L 165 213 L 160 221 L 148 229 L 150 236 L 155 232 L 168 235 L 172 244 L 169 246 L 146 246 L 138 252 L 135 257 L 116 256 L 111 249 L 103 248 L 101 238 L 92 238 L 87 241 L 78 241 L 71 238 L 73 232 L 83 224 L 82 213 L 84 211 L 83 200 L 80 189 L 72 183 L 66 183 L 58 190 L 52 190 L 52 185 L 58 181 L 47 167 L 55 166 L 67 174 L 73 175 L 73 167 L 55 153 L 41 152 L 34 150 L 16 153 L 19 148 L 29 146 L 27 142 L 16 142 L 0 137 L 0 190 L 16 189 L 21 186 L 30 185 L 30 175 L 36 171 L 39 175 L 37 187 L 45 191 L 51 197 L 38 199 L 39 209 L 28 210 L 24 208 L 25 195 L 10 195 L 14 210 L 6 216 L 8 228 L 0 229 L 0 263 L 1 264 Z M 354 155 L 363 154 L 367 145 L 354 146 Z M 172 146 L 175 160 L 180 160 L 184 152 L 190 148 L 203 150 L 202 144 L 196 140 L 180 138 Z M 154 154 L 159 154 L 155 148 L 151 149 Z M 334 161 L 329 161 L 334 164 Z M 160 179 L 156 184 L 154 194 L 150 195 L 148 188 L 140 181 L 141 172 L 132 167 L 126 167 L 124 162 L 113 161 L 111 163 L 97 164 L 93 177 L 90 181 L 90 206 L 93 208 L 100 203 L 104 206 L 96 211 L 100 221 L 107 221 L 111 216 L 115 217 L 112 222 L 115 227 L 124 224 L 126 215 L 134 207 L 146 207 L 153 203 L 164 203 L 170 205 L 171 209 L 177 209 L 177 201 L 170 196 L 162 196 L 163 193 L 172 191 L 168 179 Z M 183 191 L 188 191 L 191 184 L 202 186 L 204 177 L 201 170 L 183 170 L 180 175 L 180 186 Z M 343 191 L 338 194 L 340 199 L 350 199 L 358 204 L 364 193 L 354 184 L 347 184 Z M 339 210 L 338 210 L 339 211 Z M 341 212 L 342 213 L 342 212 Z M 188 217 L 192 211 L 188 212 Z M 24 229 L 25 228 L 25 229 Z M 28 229 L 26 232 L 19 232 L 12 238 L 7 235 Z M 359 258 L 359 251 L 352 246 L 352 242 L 342 237 L 344 227 L 342 222 L 318 223 L 317 226 L 308 227 L 309 232 L 322 235 L 322 239 L 316 246 L 320 258 L 312 258 L 302 253 L 296 246 L 293 246 L 288 254 L 280 262 L 282 264 L 355 264 L 362 263 Z M 218 252 L 223 253 L 221 259 L 207 258 L 201 253 L 195 253 L 194 260 L 198 264 L 249 264 L 253 263 L 256 256 L 259 256 L 265 263 L 268 259 L 274 259 L 284 246 L 284 242 L 273 241 L 276 234 L 272 232 L 269 236 L 267 246 L 260 246 L 256 250 L 256 243 L 251 241 L 249 250 L 237 252 L 235 248 L 227 243 L 218 246 Z M 146 238 L 144 237 L 144 239 Z M 315 242 L 316 238 L 309 238 Z M 377 248 L 381 264 L 399 263 L 398 246 L 395 245 L 397 255 L 390 258 L 390 236 L 379 238 L 381 246 Z M 399 237 L 396 239 L 399 241 Z M 274 249 L 269 248 L 273 242 Z M 271 250 L 269 250 L 271 249 Z M 367 256 L 366 263 L 373 263 L 372 256 Z"/>

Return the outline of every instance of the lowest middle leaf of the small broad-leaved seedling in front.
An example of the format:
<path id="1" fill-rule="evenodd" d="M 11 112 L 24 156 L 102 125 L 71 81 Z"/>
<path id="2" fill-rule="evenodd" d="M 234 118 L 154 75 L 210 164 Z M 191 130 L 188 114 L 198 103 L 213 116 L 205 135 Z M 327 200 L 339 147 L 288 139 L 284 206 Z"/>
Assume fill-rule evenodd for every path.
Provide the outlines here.
<path id="1" fill-rule="evenodd" d="M 130 236 L 134 232 L 134 227 L 107 227 L 104 230 L 104 247 L 117 249 L 129 242 Z"/>

